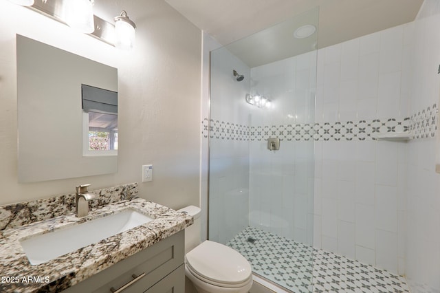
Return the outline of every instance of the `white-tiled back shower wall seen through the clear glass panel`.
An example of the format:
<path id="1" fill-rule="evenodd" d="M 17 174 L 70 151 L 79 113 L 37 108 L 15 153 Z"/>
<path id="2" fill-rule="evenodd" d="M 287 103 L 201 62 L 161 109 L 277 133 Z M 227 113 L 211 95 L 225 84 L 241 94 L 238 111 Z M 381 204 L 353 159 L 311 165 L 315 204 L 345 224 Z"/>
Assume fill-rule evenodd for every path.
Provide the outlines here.
<path id="1" fill-rule="evenodd" d="M 314 142 L 295 138 L 314 135 L 316 51 L 253 67 L 251 78 L 272 107 L 250 107 L 250 226 L 311 245 Z M 280 138 L 280 149 L 269 151 L 267 138 Z"/>

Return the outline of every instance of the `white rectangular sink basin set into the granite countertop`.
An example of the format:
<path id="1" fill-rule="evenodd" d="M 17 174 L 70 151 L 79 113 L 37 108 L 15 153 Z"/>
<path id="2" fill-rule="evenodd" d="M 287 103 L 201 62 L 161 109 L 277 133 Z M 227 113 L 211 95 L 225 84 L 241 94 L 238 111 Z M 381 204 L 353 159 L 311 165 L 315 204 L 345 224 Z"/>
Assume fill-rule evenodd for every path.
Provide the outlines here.
<path id="1" fill-rule="evenodd" d="M 135 210 L 127 209 L 83 224 L 36 235 L 21 240 L 20 243 L 30 263 L 38 265 L 135 228 L 148 221 L 153 221 L 153 218 L 137 213 Z"/>

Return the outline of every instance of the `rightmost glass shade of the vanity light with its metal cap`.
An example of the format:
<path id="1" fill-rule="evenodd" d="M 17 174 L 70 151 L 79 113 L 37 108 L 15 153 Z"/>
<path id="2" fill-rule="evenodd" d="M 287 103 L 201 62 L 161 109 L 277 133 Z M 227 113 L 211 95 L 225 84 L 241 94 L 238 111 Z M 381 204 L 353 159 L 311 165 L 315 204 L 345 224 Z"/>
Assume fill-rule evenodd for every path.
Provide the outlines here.
<path id="1" fill-rule="evenodd" d="M 133 49 L 136 25 L 126 15 L 125 10 L 115 17 L 115 47 L 122 50 Z"/>

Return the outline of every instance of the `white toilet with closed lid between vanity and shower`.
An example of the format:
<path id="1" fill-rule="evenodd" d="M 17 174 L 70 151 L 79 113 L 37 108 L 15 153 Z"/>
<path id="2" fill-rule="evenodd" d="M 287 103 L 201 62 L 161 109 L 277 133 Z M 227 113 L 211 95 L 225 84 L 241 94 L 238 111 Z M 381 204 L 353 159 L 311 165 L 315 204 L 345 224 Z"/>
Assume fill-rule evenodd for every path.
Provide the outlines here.
<path id="1" fill-rule="evenodd" d="M 195 221 L 200 216 L 200 208 L 195 206 L 178 211 Z M 199 293 L 246 293 L 252 287 L 252 268 L 243 255 L 209 240 L 186 253 L 185 274 Z"/>

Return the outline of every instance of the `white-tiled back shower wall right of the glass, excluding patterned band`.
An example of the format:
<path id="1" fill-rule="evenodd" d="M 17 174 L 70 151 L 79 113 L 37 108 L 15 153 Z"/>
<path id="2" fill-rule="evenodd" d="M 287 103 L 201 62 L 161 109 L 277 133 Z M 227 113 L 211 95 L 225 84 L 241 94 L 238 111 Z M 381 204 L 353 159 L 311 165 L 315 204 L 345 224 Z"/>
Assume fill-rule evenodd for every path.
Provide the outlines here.
<path id="1" fill-rule="evenodd" d="M 316 122 L 408 130 L 413 27 L 319 50 Z M 404 274 L 407 152 L 404 142 L 315 143 L 314 246 Z"/>

